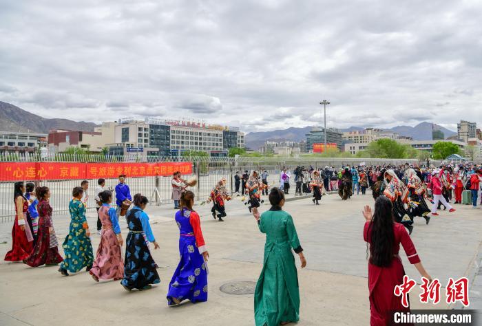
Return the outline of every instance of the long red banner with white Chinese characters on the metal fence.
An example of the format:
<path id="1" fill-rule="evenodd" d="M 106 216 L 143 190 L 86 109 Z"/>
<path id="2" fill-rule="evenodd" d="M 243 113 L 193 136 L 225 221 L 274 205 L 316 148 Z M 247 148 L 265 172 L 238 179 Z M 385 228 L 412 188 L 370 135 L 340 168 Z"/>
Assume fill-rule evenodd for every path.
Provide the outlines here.
<path id="1" fill-rule="evenodd" d="M 0 181 L 67 180 L 127 177 L 172 176 L 175 171 L 191 174 L 192 162 L 165 163 L 64 163 L 1 162 Z"/>

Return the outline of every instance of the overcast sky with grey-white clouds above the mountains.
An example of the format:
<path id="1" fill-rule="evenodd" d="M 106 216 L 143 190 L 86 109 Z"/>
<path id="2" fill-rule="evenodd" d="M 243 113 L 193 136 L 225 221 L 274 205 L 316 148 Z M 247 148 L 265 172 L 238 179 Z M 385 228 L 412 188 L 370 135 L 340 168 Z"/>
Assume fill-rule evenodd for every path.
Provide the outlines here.
<path id="1" fill-rule="evenodd" d="M 244 131 L 482 123 L 482 3 L 0 0 L 0 100 Z"/>

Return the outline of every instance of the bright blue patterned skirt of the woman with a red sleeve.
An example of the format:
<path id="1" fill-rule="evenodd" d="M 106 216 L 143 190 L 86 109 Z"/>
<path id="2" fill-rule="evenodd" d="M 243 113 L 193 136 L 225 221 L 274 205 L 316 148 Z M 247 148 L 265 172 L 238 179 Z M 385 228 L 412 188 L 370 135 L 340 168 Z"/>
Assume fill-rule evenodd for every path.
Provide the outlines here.
<path id="1" fill-rule="evenodd" d="M 174 304 L 172 298 L 192 303 L 207 301 L 207 265 L 196 247 L 196 239 L 181 236 L 179 252 L 180 262 L 169 283 L 167 304 Z"/>

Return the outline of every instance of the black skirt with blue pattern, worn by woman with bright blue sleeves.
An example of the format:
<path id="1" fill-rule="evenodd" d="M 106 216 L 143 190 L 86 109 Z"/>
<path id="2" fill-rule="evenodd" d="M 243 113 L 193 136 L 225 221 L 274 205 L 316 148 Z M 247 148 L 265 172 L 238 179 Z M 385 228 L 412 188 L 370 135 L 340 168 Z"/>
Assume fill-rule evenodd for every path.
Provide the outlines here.
<path id="1" fill-rule="evenodd" d="M 125 243 L 124 278 L 121 284 L 129 289 L 142 289 L 146 285 L 160 283 L 156 263 L 143 232 L 129 232 Z"/>

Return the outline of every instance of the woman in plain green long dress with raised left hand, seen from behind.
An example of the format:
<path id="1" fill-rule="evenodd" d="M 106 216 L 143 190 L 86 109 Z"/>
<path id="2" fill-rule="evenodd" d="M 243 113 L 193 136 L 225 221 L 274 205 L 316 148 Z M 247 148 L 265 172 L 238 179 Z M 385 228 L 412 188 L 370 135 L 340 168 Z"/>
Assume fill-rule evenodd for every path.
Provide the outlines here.
<path id="1" fill-rule="evenodd" d="M 301 267 L 306 259 L 296 234 L 293 218 L 281 208 L 284 193 L 271 188 L 270 210 L 253 215 L 260 231 L 266 233 L 264 262 L 254 294 L 254 316 L 257 326 L 275 326 L 296 323 L 300 319 L 300 290 L 295 257 L 291 248 L 300 256 Z"/>

